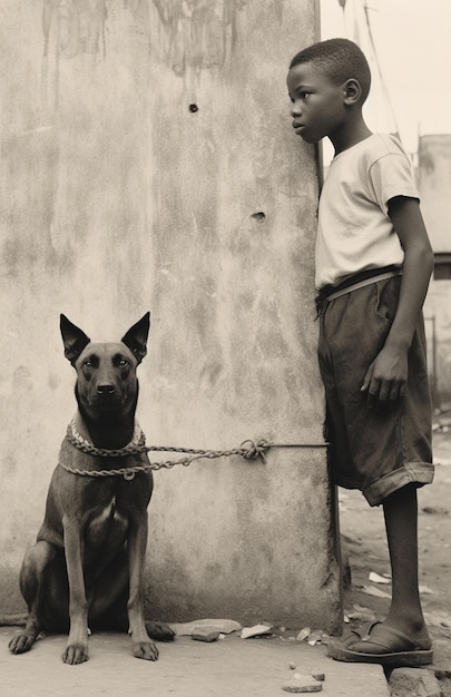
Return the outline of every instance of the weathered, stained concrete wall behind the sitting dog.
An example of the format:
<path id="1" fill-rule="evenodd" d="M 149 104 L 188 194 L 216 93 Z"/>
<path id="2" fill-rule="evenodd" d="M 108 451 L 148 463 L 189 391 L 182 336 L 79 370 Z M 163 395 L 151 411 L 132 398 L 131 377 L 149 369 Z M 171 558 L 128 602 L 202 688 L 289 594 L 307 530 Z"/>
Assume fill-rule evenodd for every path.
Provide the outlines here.
<path id="1" fill-rule="evenodd" d="M 156 474 L 147 609 L 340 625 L 313 322 L 317 177 L 286 67 L 313 0 L 1 0 L 2 610 L 75 410 L 63 312 L 151 311 L 149 444 L 296 448 Z"/>

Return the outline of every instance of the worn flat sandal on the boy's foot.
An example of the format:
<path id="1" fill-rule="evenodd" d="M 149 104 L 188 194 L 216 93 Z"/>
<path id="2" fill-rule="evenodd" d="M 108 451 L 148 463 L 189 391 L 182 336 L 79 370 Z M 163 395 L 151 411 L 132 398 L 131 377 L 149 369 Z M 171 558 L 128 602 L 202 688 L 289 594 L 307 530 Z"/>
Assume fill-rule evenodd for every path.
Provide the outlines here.
<path id="1" fill-rule="evenodd" d="M 378 629 L 373 638 L 371 631 L 374 627 Z M 382 651 L 364 654 L 353 650 L 353 645 L 360 641 L 379 647 Z M 370 622 L 359 629 L 352 629 L 352 634 L 343 640 L 332 641 L 327 647 L 327 656 L 335 660 L 414 668 L 431 664 L 433 651 L 420 648 L 410 637 L 393 627 L 382 622 Z"/>

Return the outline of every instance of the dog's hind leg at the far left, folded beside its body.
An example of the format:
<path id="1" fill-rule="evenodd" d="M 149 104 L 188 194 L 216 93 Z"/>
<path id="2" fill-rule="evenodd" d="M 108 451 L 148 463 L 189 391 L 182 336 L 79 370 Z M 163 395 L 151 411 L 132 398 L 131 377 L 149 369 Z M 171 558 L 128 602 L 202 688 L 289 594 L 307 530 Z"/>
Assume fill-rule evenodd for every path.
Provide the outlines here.
<path id="1" fill-rule="evenodd" d="M 26 554 L 20 570 L 20 590 L 28 605 L 24 628 L 9 642 L 12 654 L 29 651 L 42 629 L 43 578 L 57 550 L 48 542 L 37 542 Z"/>

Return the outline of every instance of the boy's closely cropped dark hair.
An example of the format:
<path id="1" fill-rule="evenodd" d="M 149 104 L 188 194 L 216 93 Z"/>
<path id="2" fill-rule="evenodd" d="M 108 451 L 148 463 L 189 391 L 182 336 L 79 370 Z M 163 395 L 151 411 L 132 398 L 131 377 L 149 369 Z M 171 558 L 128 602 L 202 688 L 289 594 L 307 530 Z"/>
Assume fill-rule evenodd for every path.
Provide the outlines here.
<path id="1" fill-rule="evenodd" d="M 333 82 L 342 85 L 350 78 L 359 80 L 362 88 L 362 104 L 365 101 L 371 85 L 371 72 L 363 51 L 349 39 L 327 39 L 313 43 L 296 53 L 290 69 L 300 63 L 312 62 L 315 68 Z"/>

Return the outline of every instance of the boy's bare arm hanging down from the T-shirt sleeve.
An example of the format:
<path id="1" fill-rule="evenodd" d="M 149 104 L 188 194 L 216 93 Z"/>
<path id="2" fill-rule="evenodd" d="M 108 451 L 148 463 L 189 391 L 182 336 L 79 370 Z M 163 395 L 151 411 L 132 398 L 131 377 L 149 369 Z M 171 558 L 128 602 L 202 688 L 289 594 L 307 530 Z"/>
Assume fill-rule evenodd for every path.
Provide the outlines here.
<path id="1" fill-rule="evenodd" d="M 361 391 L 370 408 L 405 393 L 408 354 L 433 269 L 433 253 L 416 199 L 396 196 L 389 216 L 404 249 L 400 301 L 385 345 L 370 365 Z"/>

